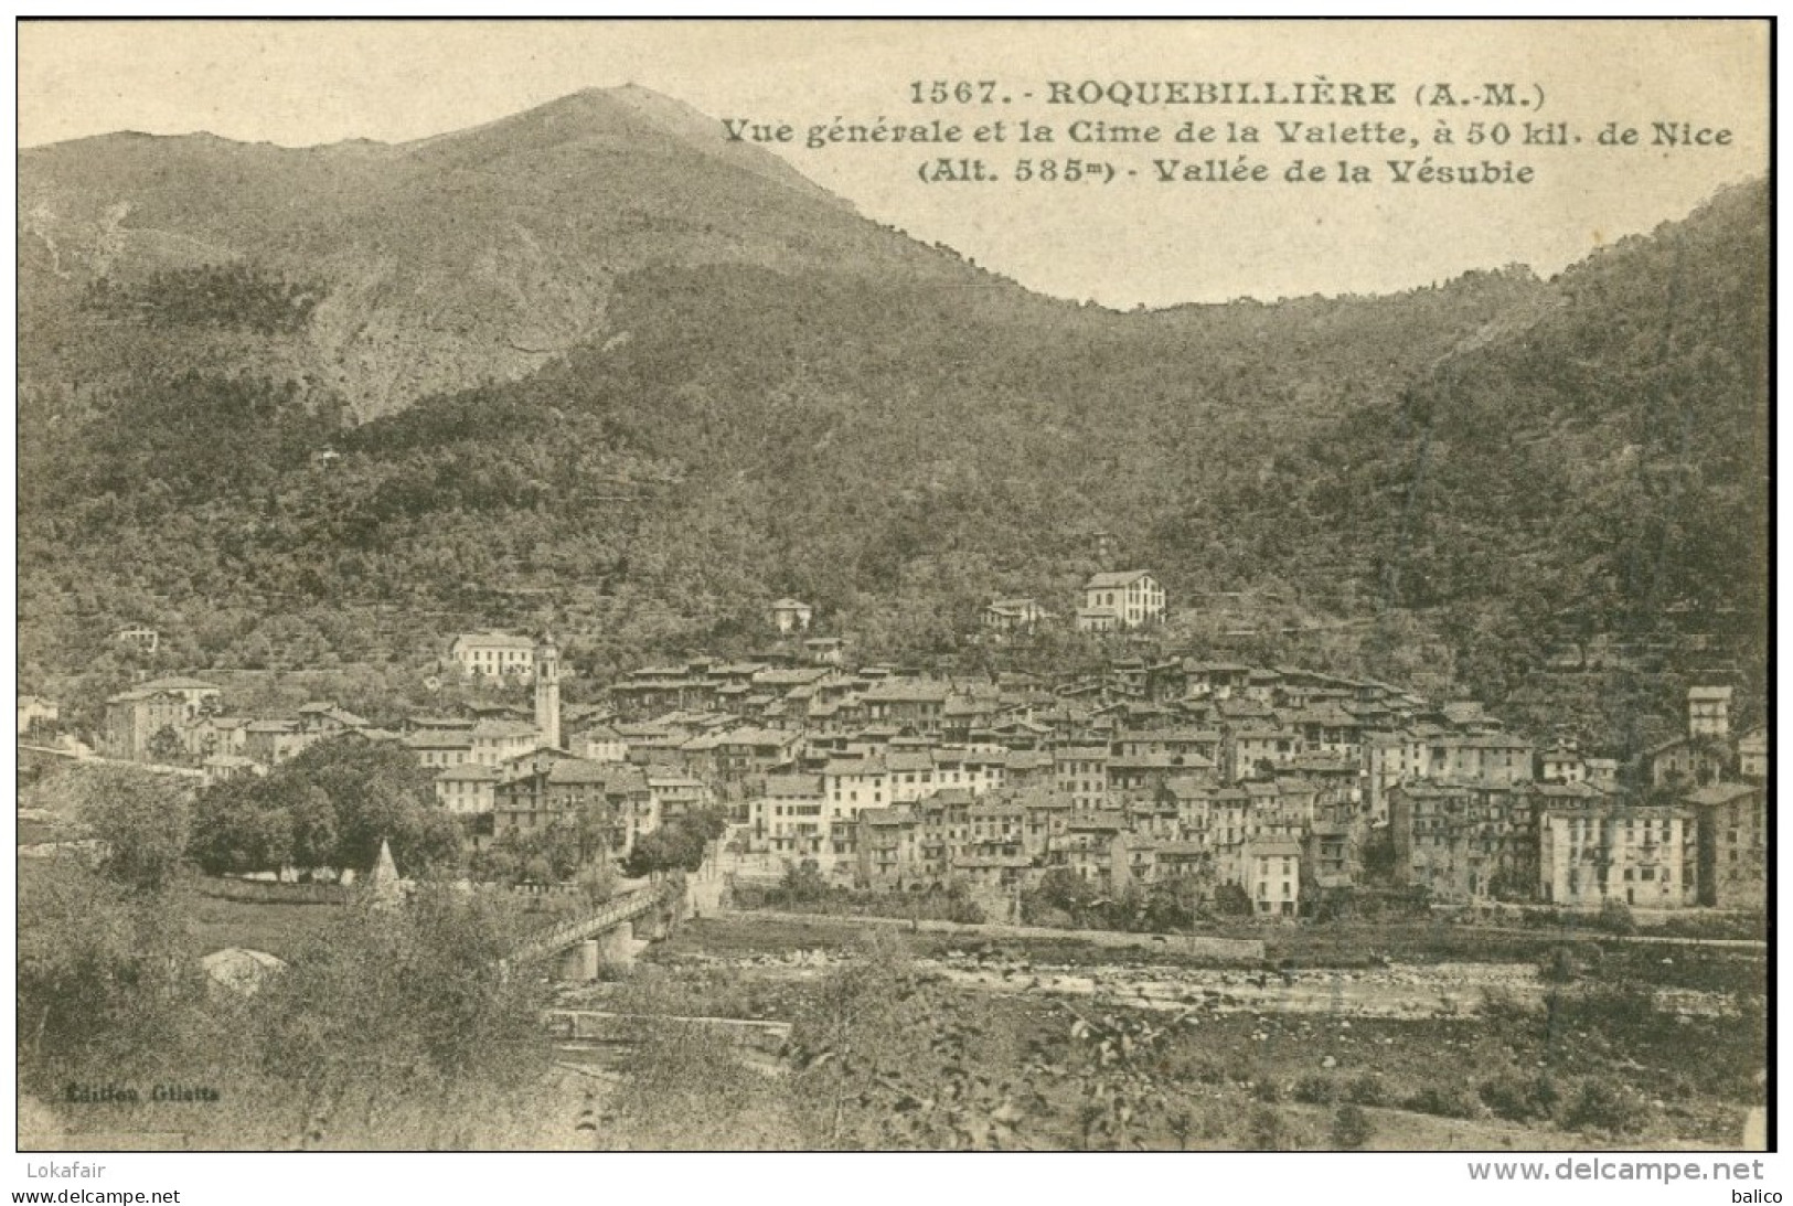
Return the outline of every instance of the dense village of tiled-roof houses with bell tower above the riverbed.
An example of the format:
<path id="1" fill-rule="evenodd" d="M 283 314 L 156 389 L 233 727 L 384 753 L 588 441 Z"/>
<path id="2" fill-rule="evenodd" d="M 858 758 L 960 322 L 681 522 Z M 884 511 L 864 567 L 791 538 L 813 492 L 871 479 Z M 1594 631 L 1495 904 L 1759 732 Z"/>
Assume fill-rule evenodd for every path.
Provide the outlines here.
<path id="1" fill-rule="evenodd" d="M 1472 701 L 1298 667 L 1112 658 L 1054 681 L 855 665 L 841 638 L 807 636 L 812 613 L 780 599 L 766 613 L 776 652 L 640 667 L 568 708 L 550 636 L 464 633 L 445 665 L 515 702 L 500 692 L 398 729 L 328 701 L 238 717 L 221 688 L 163 677 L 108 701 L 99 745 L 217 781 L 355 735 L 411 751 L 475 849 L 577 821 L 626 858 L 721 808 L 723 858 L 742 876 L 812 866 L 843 887 L 957 885 L 999 916 L 1052 871 L 1103 894 L 1183 880 L 1259 917 L 1339 916 L 1377 891 L 1764 907 L 1768 740 L 1732 735 L 1730 686 L 1691 688 L 1685 735 L 1621 767 L 1510 733 Z M 1151 573 L 1097 573 L 1074 624 L 1162 616 Z M 983 616 L 993 634 L 1051 622 L 1033 599 Z M 20 735 L 54 715 L 20 697 Z"/>

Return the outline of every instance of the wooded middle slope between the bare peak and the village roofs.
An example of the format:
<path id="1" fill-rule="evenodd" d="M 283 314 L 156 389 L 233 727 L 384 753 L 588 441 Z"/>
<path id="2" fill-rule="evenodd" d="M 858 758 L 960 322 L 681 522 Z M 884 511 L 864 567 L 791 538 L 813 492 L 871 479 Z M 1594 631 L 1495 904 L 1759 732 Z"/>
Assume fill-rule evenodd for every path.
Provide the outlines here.
<path id="1" fill-rule="evenodd" d="M 800 593 L 871 642 L 945 649 L 993 591 L 1069 600 L 1097 529 L 1178 586 L 1237 584 L 1248 532 L 1182 548 L 1155 525 L 1535 289 L 1133 319 L 658 269 L 620 283 L 602 342 L 364 425 L 290 382 L 151 378 L 86 418 L 22 416 L 29 615 L 63 604 L 66 625 L 27 650 L 79 665 L 113 625 L 178 611 L 183 629 L 197 606 L 210 634 L 188 652 L 237 658 L 267 613 L 423 607 L 452 631 L 515 622 L 518 590 L 604 599 L 617 647 L 726 638 Z M 1368 337 L 1397 324 L 1406 362 Z"/>

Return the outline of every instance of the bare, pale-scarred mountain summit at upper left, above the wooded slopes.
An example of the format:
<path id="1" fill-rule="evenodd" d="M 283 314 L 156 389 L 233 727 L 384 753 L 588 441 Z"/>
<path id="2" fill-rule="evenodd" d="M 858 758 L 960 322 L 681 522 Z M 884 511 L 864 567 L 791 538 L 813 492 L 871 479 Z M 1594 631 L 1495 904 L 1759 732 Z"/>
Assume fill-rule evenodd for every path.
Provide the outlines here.
<path id="1" fill-rule="evenodd" d="M 373 418 L 513 380 L 593 337 L 611 280 L 644 265 L 997 283 L 699 125 L 645 90 L 604 90 L 355 154 L 210 134 L 30 149 L 20 156 L 27 305 L 66 310 L 70 289 L 97 278 L 217 262 L 317 280 L 328 296 L 314 324 L 262 353 Z"/>

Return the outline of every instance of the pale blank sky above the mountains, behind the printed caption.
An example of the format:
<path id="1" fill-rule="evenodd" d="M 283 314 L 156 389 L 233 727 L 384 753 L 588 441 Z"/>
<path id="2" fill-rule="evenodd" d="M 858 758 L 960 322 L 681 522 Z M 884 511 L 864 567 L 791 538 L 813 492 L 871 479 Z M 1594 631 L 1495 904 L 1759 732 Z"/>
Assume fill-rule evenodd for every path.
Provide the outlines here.
<path id="1" fill-rule="evenodd" d="M 1474 267 L 1522 262 L 1555 272 L 1599 244 L 1684 217 L 1716 188 L 1768 163 L 1764 23 L 1510 22 L 864 22 L 864 23 L 400 23 L 160 22 L 23 23 L 20 143 L 136 129 L 212 131 L 308 145 L 400 142 L 477 125 L 590 86 L 637 82 L 715 118 L 843 116 L 977 124 L 1020 116 L 1158 124 L 1275 118 L 1386 120 L 1429 136 L 1436 109 L 1415 90 L 1542 88 L 1544 108 L 1490 113 L 1517 133 L 1569 122 L 1572 149 L 1386 147 L 957 147 L 952 154 L 1054 154 L 1137 165 L 1115 185 L 923 185 L 934 149 L 801 143 L 776 152 L 862 213 L 957 247 L 984 267 L 1069 297 L 1130 306 L 1237 296 L 1388 292 Z M 995 79 L 1009 106 L 934 109 L 911 81 Z M 1049 81 L 1391 82 L 1390 108 L 1065 108 Z M 1033 91 L 1035 100 L 1022 93 Z M 1461 127 L 1477 116 L 1451 111 Z M 1662 151 L 1596 142 L 1607 122 L 1728 127 L 1730 145 Z M 1513 140 L 1517 142 L 1517 138 Z M 1533 163 L 1529 186 L 1239 186 L 1151 183 L 1153 158 L 1241 152 L 1282 167 L 1341 154 L 1386 174 L 1388 158 L 1434 154 Z"/>

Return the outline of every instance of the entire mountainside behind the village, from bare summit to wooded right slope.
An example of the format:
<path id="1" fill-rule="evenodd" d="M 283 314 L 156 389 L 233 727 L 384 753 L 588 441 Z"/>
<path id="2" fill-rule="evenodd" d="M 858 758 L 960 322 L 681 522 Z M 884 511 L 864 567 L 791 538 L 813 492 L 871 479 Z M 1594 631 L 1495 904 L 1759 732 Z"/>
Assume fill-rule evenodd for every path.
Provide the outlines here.
<path id="1" fill-rule="evenodd" d="M 749 649 L 784 593 L 943 652 L 992 595 L 1069 607 L 1097 530 L 1173 609 L 1273 586 L 1494 704 L 1563 636 L 1759 679 L 1764 185 L 1555 281 L 1121 315 L 708 140 L 586 93 L 405 147 L 27 152 L 25 681 L 118 674 L 127 622 L 188 670 L 554 622 L 590 676 Z"/>

